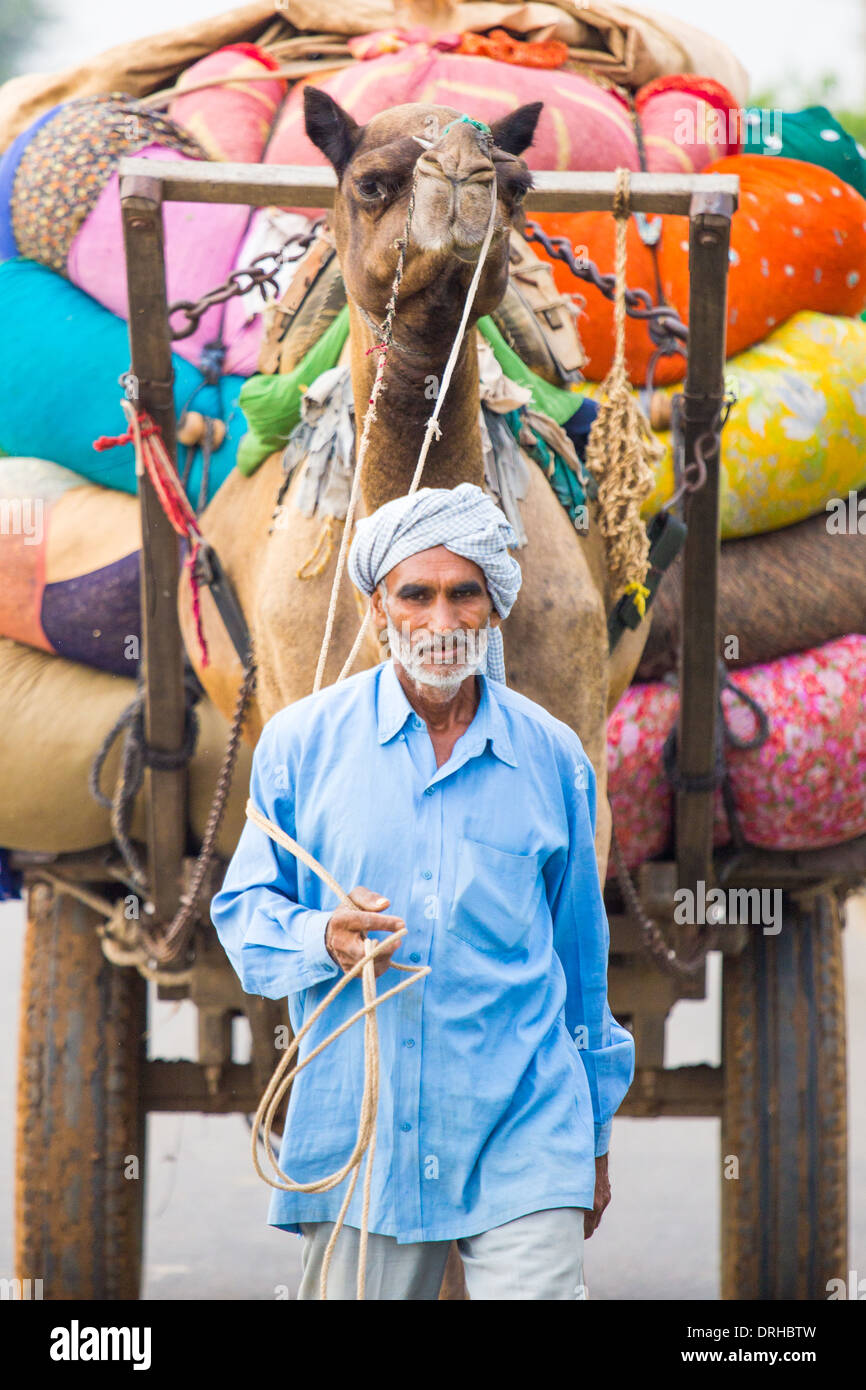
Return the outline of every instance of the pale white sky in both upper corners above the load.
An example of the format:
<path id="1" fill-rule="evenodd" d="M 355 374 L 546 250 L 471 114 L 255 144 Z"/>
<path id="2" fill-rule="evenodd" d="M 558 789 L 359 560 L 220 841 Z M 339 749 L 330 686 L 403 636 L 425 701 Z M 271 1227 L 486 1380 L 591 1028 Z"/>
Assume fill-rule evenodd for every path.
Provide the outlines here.
<path id="1" fill-rule="evenodd" d="M 231 8 L 228 0 L 46 0 L 57 14 L 39 49 L 19 56 L 19 71 L 54 71 L 125 39 Z M 642 8 L 634 3 L 632 8 Z M 835 104 L 866 106 L 866 0 L 659 0 L 734 49 L 752 89 L 773 86 L 781 104 L 796 106 L 824 72 L 840 82 Z"/>

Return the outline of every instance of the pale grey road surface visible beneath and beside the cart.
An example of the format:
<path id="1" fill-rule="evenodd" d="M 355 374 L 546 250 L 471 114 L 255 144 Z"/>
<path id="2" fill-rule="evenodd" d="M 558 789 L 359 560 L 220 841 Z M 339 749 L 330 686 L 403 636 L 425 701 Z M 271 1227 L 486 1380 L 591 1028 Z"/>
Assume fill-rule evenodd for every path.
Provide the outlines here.
<path id="1" fill-rule="evenodd" d="M 11 1275 L 13 1118 L 22 908 L 0 905 L 0 1275 Z M 849 1029 L 851 1268 L 866 1276 L 866 897 L 845 931 Z M 710 997 L 677 1005 L 670 1066 L 719 1061 L 719 959 Z M 157 1004 L 152 1052 L 193 1055 L 193 1006 Z M 157 1115 L 149 1127 L 145 1298 L 293 1297 L 300 1237 L 265 1223 L 239 1116 Z M 589 1298 L 719 1298 L 719 1122 L 614 1120 L 613 1201 L 587 1244 Z M 282 1293 L 285 1297 L 285 1293 Z"/>

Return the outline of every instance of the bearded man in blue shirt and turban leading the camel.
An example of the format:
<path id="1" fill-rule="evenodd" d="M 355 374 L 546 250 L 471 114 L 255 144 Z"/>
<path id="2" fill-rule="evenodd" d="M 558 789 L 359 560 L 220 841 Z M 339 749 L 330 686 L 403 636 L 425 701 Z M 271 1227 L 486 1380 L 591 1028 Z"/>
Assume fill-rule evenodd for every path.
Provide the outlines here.
<path id="1" fill-rule="evenodd" d="M 359 521 L 349 571 L 391 659 L 275 714 L 250 787 L 338 883 L 360 885 L 357 910 L 253 824 L 213 902 L 243 988 L 288 995 L 295 1031 L 368 933 L 407 927 L 375 962 L 378 992 L 391 955 L 431 967 L 377 1009 L 368 1298 L 435 1298 L 452 1240 L 470 1298 L 584 1298 L 584 1236 L 610 1201 L 634 1042 L 606 999 L 592 766 L 571 728 L 505 684 L 514 539 L 473 484 Z M 300 1056 L 361 1002 L 354 979 Z M 356 1024 L 295 1079 L 279 1155 L 295 1182 L 350 1155 L 363 1068 Z M 354 1297 L 361 1187 L 329 1297 Z M 318 1297 L 345 1191 L 272 1195 L 270 1223 L 304 1237 L 299 1298 Z"/>

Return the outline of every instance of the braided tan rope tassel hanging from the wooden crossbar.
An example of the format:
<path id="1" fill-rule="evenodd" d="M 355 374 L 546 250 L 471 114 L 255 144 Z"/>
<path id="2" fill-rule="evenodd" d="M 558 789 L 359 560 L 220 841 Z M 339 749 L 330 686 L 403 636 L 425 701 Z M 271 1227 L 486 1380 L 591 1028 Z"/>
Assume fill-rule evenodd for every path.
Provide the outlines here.
<path id="1" fill-rule="evenodd" d="M 638 406 L 626 374 L 626 236 L 628 231 L 627 168 L 617 171 L 613 196 L 616 218 L 614 352 L 599 392 L 599 411 L 587 445 L 587 468 L 598 482 L 599 528 L 605 537 L 610 600 L 635 592 L 644 610 L 649 539 L 641 506 L 655 485 L 653 464 L 664 449 Z"/>

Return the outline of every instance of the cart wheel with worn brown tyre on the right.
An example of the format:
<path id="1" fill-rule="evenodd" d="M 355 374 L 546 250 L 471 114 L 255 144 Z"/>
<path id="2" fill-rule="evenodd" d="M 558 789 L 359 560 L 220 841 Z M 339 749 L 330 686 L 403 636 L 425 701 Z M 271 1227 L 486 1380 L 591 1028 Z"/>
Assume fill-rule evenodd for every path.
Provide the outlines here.
<path id="1" fill-rule="evenodd" d="M 783 899 L 723 974 L 721 1297 L 826 1298 L 847 1280 L 845 994 L 830 891 Z M 735 1161 L 735 1162 L 734 1162 Z M 738 1176 L 734 1176 L 738 1172 Z"/>

